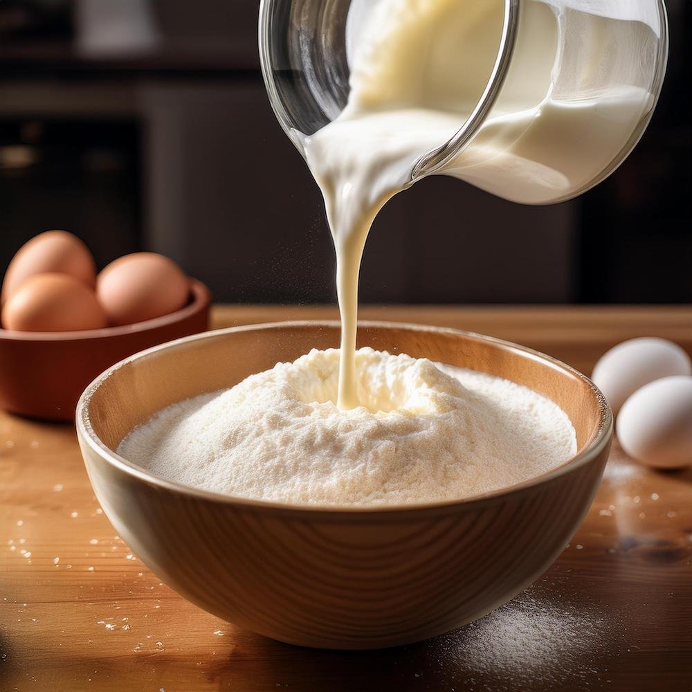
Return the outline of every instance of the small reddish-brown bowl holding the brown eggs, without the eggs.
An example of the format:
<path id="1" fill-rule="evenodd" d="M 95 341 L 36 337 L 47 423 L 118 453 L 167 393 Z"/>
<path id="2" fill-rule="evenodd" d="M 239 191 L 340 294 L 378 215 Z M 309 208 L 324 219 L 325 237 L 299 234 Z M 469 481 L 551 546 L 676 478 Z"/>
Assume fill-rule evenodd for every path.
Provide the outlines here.
<path id="1" fill-rule="evenodd" d="M 138 351 L 208 329 L 211 294 L 190 281 L 190 302 L 170 315 L 126 327 L 29 332 L 0 329 L 0 408 L 71 421 L 80 394 L 100 372 Z"/>

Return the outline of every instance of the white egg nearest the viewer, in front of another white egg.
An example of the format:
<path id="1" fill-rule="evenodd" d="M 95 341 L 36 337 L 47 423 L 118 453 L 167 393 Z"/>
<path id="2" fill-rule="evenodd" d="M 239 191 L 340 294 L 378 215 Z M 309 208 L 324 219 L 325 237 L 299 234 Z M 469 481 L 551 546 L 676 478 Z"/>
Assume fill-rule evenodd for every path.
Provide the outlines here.
<path id="1" fill-rule="evenodd" d="M 632 394 L 620 410 L 617 437 L 646 466 L 692 466 L 692 377 L 664 377 Z"/>

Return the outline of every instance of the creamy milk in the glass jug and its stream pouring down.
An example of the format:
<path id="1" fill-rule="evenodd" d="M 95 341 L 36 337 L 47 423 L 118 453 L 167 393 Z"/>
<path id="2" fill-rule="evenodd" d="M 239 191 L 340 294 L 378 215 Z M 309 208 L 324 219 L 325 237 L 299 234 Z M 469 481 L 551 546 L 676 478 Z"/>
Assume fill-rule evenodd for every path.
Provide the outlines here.
<path id="1" fill-rule="evenodd" d="M 594 159 L 605 167 L 618 155 L 653 97 L 622 86 L 592 98 L 559 98 L 552 80 L 560 59 L 556 14 L 546 4 L 526 3 L 522 21 L 536 40 L 515 56 L 520 84 L 500 95 L 471 143 L 435 173 L 507 199 L 516 193 L 545 203 L 588 186 Z M 347 106 L 311 136 L 293 132 L 324 195 L 336 248 L 339 408 L 358 406 L 358 272 L 370 226 L 415 181 L 419 159 L 446 143 L 482 98 L 503 22 L 502 0 L 354 0 Z M 583 122 L 594 117 L 598 127 L 581 136 Z"/>

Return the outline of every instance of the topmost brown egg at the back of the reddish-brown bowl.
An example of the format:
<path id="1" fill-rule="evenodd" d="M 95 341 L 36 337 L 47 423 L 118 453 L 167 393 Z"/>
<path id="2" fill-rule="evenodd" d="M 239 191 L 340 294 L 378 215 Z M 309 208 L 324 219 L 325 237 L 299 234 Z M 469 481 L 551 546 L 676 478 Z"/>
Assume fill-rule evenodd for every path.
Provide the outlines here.
<path id="1" fill-rule="evenodd" d="M 28 278 L 48 272 L 69 274 L 92 289 L 96 285 L 96 264 L 89 248 L 76 235 L 48 230 L 21 246 L 12 258 L 2 284 L 2 303 Z"/>

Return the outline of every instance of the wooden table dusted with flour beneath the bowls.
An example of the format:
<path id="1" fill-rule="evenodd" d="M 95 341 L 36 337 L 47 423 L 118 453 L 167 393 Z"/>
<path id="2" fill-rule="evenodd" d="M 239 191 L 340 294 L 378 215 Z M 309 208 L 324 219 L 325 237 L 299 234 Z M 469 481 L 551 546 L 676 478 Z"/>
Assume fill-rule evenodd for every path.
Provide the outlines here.
<path id="1" fill-rule="evenodd" d="M 215 326 L 334 318 L 332 308 L 219 307 Z M 632 336 L 692 352 L 692 308 L 369 307 L 364 319 L 459 327 L 590 372 Z M 237 630 L 165 587 L 115 535 L 71 426 L 0 414 L 0 690 L 692 690 L 692 471 L 617 446 L 558 561 L 475 626 L 369 653 Z"/>

